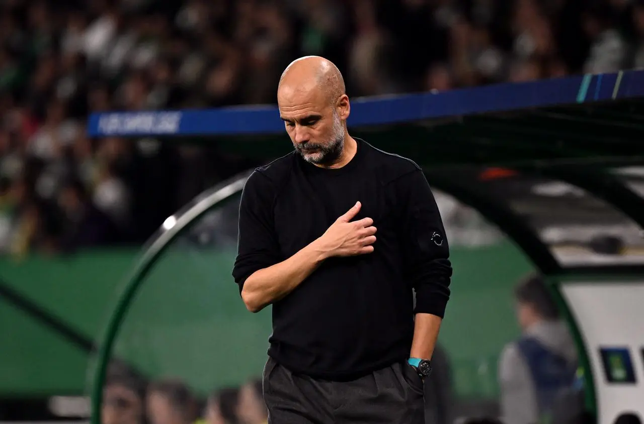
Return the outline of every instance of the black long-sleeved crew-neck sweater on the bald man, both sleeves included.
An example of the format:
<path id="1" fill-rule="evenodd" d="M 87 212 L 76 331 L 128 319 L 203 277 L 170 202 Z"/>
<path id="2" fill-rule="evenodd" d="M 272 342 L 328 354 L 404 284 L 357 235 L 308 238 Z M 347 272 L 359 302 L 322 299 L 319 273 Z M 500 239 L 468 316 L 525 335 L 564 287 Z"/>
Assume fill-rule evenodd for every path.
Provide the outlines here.
<path id="1" fill-rule="evenodd" d="M 415 312 L 442 317 L 449 248 L 436 201 L 413 161 L 357 140 L 354 158 L 322 169 L 292 152 L 256 169 L 242 194 L 240 286 L 321 236 L 356 201 L 374 219 L 374 252 L 327 259 L 272 306 L 269 355 L 294 373 L 357 378 L 406 360 Z"/>

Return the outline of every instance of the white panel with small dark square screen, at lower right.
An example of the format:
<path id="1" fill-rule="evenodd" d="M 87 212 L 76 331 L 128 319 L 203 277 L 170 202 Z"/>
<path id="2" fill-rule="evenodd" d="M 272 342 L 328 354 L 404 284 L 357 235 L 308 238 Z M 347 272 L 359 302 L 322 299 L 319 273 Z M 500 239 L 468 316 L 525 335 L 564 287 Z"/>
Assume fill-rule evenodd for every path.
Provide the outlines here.
<path id="1" fill-rule="evenodd" d="M 644 282 L 567 282 L 562 292 L 590 356 L 599 424 L 625 411 L 644 417 Z M 600 347 L 629 349 L 635 384 L 607 381 Z"/>

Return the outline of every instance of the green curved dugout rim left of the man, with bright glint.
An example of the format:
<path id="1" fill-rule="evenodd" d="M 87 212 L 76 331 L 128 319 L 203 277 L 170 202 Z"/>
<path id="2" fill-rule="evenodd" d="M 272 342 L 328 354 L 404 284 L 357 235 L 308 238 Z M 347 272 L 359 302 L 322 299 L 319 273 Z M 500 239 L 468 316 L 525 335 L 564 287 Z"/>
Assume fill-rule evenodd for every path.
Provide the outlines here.
<path id="1" fill-rule="evenodd" d="M 118 335 L 118 330 L 122 320 L 128 311 L 129 304 L 134 299 L 141 282 L 144 281 L 149 270 L 154 266 L 156 261 L 165 252 L 167 246 L 171 241 L 176 239 L 178 235 L 195 219 L 198 219 L 206 212 L 211 210 L 214 205 L 231 198 L 238 194 L 242 189 L 246 180 L 249 178 L 250 172 L 244 172 L 239 176 L 225 181 L 213 189 L 208 190 L 193 201 L 184 212 L 179 212 L 175 217 L 176 221 L 170 228 L 164 230 L 145 250 L 145 253 L 139 259 L 137 266 L 133 272 L 128 275 L 126 279 L 126 286 L 117 299 L 117 304 L 113 313 L 111 313 L 106 331 L 102 337 L 102 343 L 99 347 L 99 355 L 97 358 L 97 368 L 94 374 L 94 381 L 91 390 L 91 423 L 100 424 L 100 409 L 102 407 L 102 390 L 105 383 L 105 376 L 111 355 L 114 342 Z"/>

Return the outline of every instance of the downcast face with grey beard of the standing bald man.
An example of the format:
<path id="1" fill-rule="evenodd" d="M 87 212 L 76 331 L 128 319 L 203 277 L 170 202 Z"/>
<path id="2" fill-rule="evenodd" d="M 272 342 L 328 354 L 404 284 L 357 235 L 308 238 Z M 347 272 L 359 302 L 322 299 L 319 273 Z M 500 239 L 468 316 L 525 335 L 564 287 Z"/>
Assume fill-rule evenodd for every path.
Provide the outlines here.
<path id="1" fill-rule="evenodd" d="M 342 154 L 345 115 L 341 97 L 337 104 L 316 86 L 282 88 L 278 93 L 279 114 L 296 151 L 316 165 L 332 165 Z M 346 100 L 348 108 L 348 100 Z"/>

